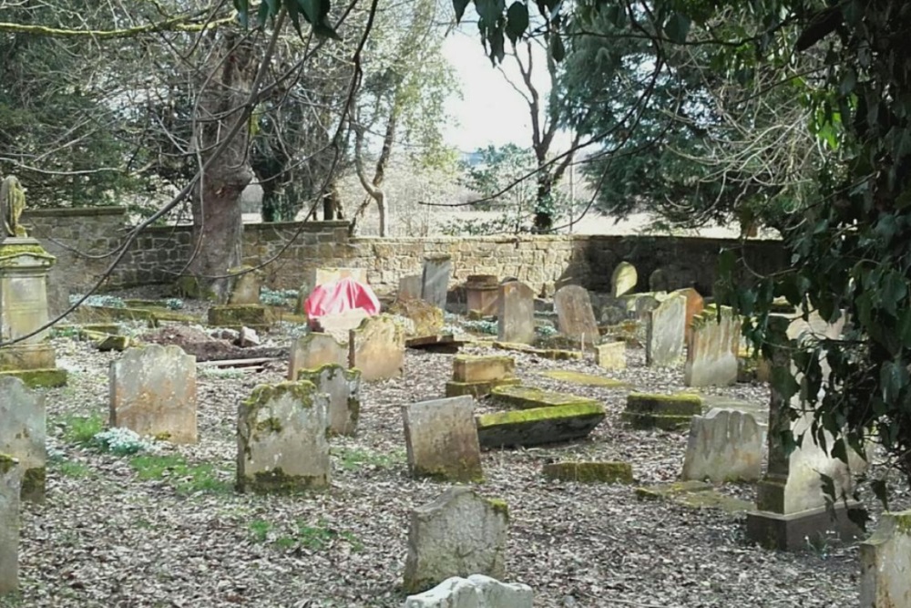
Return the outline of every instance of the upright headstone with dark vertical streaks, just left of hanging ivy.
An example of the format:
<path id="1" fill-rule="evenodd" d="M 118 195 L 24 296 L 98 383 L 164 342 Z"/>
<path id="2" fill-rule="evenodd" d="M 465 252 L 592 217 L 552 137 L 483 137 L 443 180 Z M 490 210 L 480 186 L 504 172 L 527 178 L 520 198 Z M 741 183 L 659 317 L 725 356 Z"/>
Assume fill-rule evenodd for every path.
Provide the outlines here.
<path id="1" fill-rule="evenodd" d="M 740 318 L 730 306 L 697 314 L 687 344 L 683 383 L 686 386 L 731 386 L 737 382 Z"/>

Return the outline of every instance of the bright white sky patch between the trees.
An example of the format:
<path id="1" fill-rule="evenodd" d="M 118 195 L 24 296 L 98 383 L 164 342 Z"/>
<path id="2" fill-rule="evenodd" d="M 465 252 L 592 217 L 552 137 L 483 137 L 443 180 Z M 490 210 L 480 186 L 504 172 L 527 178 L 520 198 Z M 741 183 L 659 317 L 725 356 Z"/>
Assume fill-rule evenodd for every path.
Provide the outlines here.
<path id="1" fill-rule="evenodd" d="M 507 41 L 507 46 L 511 45 Z M 445 39 L 443 51 L 455 67 L 461 80 L 463 99 L 451 99 L 448 111 L 454 120 L 445 129 L 447 143 L 470 152 L 488 144 L 501 146 L 513 142 L 523 148 L 531 147 L 531 117 L 528 107 L 496 67 L 486 57 L 477 25 L 466 14 L 466 22 Z M 536 54 L 535 84 L 542 98 L 548 94 L 548 77 L 544 70 L 543 52 Z M 522 78 L 515 59 L 506 57 L 504 70 L 517 84 Z M 541 77 L 541 75 L 544 77 Z M 565 149 L 568 138 L 555 138 L 552 152 Z"/>

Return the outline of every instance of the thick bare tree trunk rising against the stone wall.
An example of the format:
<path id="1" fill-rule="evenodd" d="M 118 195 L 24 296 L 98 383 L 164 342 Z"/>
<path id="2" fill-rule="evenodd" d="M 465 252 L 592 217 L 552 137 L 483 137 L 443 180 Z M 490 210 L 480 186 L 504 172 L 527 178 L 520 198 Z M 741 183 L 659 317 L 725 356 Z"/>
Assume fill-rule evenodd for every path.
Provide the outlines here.
<path id="1" fill-rule="evenodd" d="M 238 44 L 236 35 L 218 35 L 211 54 L 211 77 L 201 92 L 197 140 L 203 162 L 230 136 L 238 120 L 246 120 L 243 106 L 251 86 L 253 54 Z M 209 74 L 203 74 L 208 77 Z M 243 222 L 241 192 L 253 179 L 249 129 L 246 125 L 228 140 L 217 159 L 203 172 L 193 201 L 195 255 L 189 272 L 196 278 L 200 297 L 226 303 L 233 279 L 228 270 L 241 265 Z"/>

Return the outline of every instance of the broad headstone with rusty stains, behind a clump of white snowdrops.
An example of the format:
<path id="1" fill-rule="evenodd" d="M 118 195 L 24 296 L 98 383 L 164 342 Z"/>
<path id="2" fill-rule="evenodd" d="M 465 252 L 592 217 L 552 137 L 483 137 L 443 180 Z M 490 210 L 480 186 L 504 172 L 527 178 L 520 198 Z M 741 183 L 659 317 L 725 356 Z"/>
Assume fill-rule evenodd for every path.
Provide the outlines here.
<path id="1" fill-rule="evenodd" d="M 176 345 L 124 351 L 110 365 L 110 426 L 196 443 L 196 357 Z"/>

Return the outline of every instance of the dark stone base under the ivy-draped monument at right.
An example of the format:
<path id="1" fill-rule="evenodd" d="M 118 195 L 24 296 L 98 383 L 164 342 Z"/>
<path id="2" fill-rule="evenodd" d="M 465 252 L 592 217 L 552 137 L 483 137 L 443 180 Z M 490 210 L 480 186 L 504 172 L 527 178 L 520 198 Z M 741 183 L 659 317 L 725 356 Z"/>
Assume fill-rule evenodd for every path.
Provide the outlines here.
<path id="1" fill-rule="evenodd" d="M 863 510 L 864 507 L 853 500 L 849 500 L 846 507 L 839 502 L 834 513 L 825 507 L 790 515 L 753 510 L 746 515 L 746 537 L 766 549 L 779 551 L 806 549 L 807 542 L 824 540 L 830 532 L 844 542 L 858 541 L 863 538 L 864 531 L 848 517 L 848 513 Z"/>

